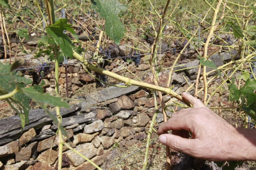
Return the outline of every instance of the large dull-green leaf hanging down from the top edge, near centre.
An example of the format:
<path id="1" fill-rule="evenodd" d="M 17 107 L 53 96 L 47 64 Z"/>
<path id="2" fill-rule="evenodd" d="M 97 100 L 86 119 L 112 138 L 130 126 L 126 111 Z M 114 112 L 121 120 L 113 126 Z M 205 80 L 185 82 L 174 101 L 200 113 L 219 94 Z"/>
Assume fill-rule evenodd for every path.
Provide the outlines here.
<path id="1" fill-rule="evenodd" d="M 91 8 L 105 19 L 106 34 L 119 45 L 126 29 L 118 15 L 126 10 L 128 5 L 120 4 L 117 0 L 91 0 L 91 3 Z"/>

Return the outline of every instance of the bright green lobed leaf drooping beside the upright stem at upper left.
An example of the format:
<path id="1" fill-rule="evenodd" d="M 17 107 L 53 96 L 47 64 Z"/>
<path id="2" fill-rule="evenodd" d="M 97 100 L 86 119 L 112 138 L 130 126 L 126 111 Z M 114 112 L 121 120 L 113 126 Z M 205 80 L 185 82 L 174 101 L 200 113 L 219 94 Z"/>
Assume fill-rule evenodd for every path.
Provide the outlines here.
<path id="1" fill-rule="evenodd" d="M 71 24 L 67 24 L 68 19 L 60 19 L 55 24 L 46 27 L 49 44 L 58 44 L 61 48 L 62 53 L 73 58 L 72 47 L 74 46 L 67 34 L 63 34 L 64 30 L 68 30 L 71 33 L 75 33 L 74 29 L 71 28 Z"/>

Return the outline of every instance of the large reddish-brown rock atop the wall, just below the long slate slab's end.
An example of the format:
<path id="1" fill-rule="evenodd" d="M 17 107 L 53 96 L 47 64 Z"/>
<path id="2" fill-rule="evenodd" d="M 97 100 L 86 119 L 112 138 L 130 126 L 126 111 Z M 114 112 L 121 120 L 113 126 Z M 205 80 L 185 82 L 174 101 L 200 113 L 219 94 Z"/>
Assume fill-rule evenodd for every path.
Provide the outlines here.
<path id="1" fill-rule="evenodd" d="M 118 112 L 121 109 L 131 109 L 134 108 L 134 102 L 127 96 L 123 95 L 118 98 L 118 101 L 111 103 L 109 108 L 112 113 Z"/>

